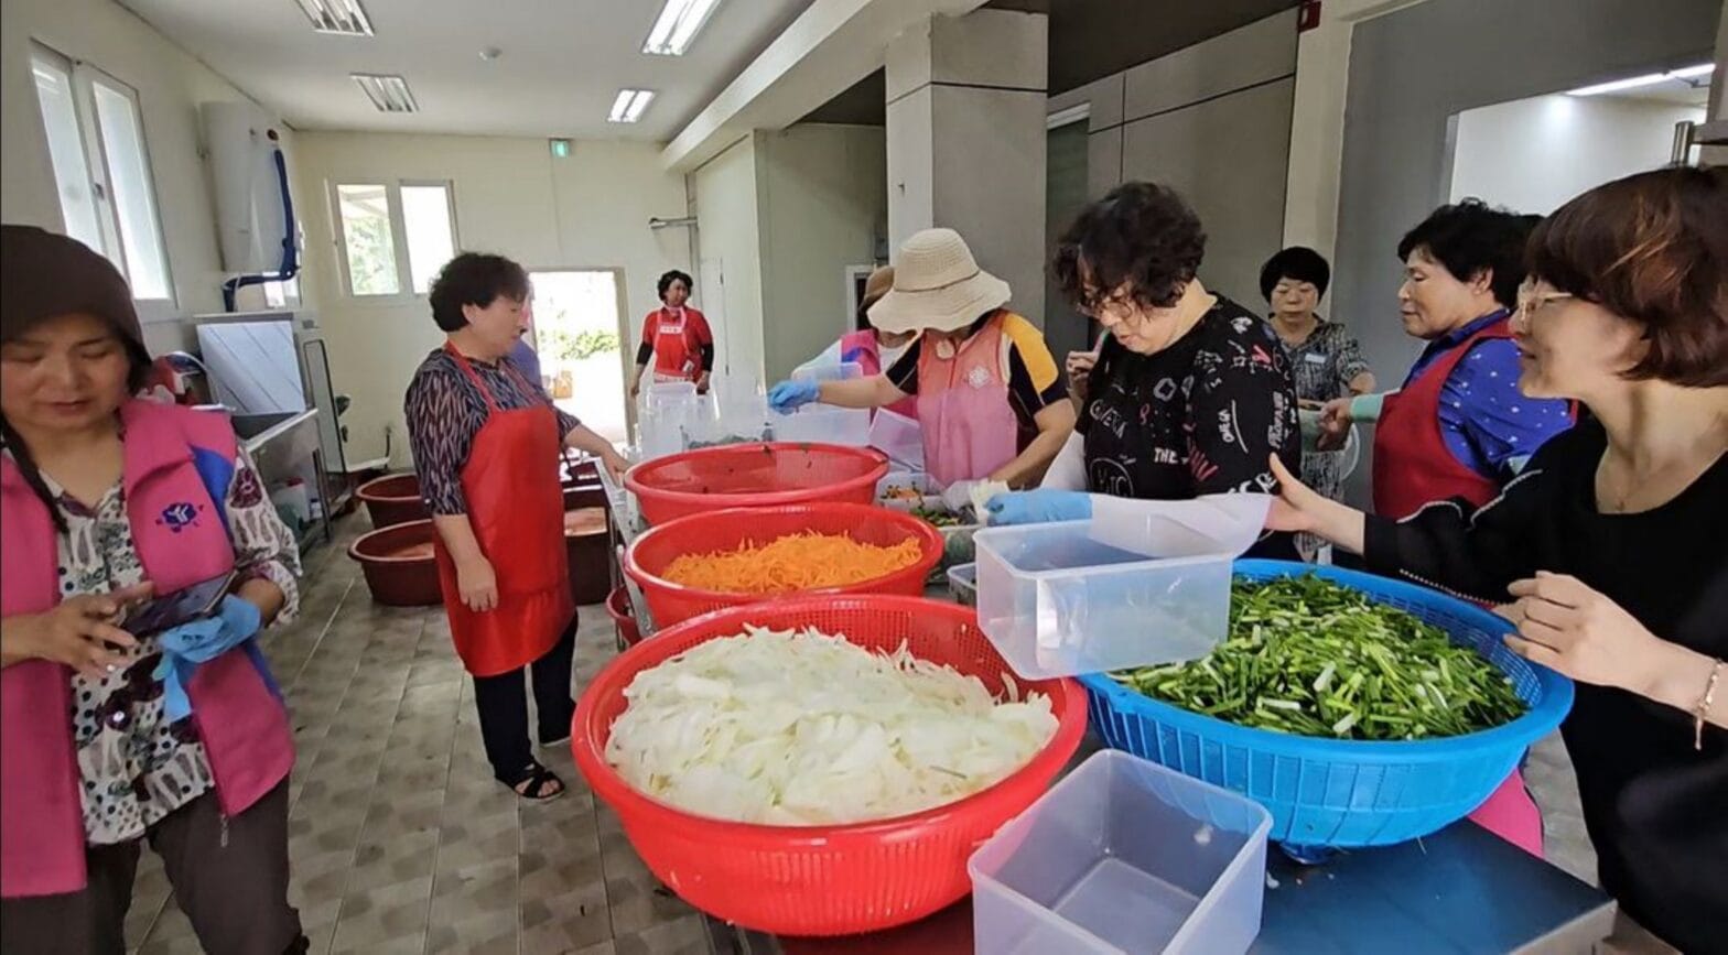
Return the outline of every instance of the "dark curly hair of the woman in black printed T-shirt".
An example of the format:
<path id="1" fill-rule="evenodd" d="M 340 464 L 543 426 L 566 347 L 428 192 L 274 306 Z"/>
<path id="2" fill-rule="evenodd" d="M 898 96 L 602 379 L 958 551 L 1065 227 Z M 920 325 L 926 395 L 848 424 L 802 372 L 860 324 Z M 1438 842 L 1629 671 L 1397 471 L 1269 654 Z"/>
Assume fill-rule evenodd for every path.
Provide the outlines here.
<path id="1" fill-rule="evenodd" d="M 1206 231 L 1177 190 L 1123 183 L 1089 206 L 1056 243 L 1051 275 L 1083 313 L 1127 287 L 1142 307 L 1170 307 L 1206 257 Z"/>

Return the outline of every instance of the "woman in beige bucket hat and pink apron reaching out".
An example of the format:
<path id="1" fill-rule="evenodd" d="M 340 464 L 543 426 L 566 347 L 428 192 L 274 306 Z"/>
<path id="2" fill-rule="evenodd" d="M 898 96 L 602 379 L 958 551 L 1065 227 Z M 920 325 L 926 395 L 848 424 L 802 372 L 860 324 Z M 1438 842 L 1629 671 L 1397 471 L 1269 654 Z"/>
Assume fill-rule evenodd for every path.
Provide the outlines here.
<path id="1" fill-rule="evenodd" d="M 978 268 L 957 231 L 919 231 L 900 245 L 893 288 L 871 306 L 869 321 L 885 335 L 921 337 L 881 375 L 781 382 L 769 402 L 791 411 L 814 401 L 885 408 L 916 397 L 931 478 L 945 487 L 1035 485 L 1073 432 L 1075 411 L 1044 335 L 1007 299 L 1007 283 Z"/>

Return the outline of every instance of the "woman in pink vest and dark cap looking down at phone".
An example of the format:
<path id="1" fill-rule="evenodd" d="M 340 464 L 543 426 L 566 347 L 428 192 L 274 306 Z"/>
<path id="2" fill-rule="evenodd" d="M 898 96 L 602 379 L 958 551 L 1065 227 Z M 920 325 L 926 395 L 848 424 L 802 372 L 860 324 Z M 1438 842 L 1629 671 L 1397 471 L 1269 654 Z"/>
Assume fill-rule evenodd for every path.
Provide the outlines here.
<path id="1" fill-rule="evenodd" d="M 299 554 L 219 414 L 131 399 L 126 281 L 0 226 L 0 948 L 124 952 L 142 843 L 199 943 L 306 952 L 289 905 L 287 712 L 252 642 Z M 124 613 L 233 575 L 159 634 Z"/>

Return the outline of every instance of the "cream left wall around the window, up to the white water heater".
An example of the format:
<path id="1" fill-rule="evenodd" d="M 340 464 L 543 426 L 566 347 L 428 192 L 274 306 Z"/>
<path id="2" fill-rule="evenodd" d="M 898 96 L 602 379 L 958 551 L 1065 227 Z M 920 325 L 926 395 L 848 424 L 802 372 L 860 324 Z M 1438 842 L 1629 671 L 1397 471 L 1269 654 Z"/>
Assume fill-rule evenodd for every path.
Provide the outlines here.
<path id="1" fill-rule="evenodd" d="M 33 40 L 138 90 L 156 207 L 178 299 L 175 311 L 221 311 L 221 254 L 209 180 L 199 157 L 197 109 L 202 102 L 247 97 L 112 0 L 5 0 L 0 5 L 0 219 L 7 223 L 64 231 L 31 78 Z M 149 323 L 145 340 L 154 351 L 192 344 L 175 321 Z"/>

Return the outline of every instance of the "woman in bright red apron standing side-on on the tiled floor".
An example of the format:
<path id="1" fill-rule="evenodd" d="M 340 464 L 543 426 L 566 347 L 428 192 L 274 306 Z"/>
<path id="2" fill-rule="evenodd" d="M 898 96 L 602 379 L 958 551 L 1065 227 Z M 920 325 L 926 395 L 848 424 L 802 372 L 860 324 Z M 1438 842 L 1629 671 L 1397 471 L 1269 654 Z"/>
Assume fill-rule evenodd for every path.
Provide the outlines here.
<path id="1" fill-rule="evenodd" d="M 532 663 L 539 743 L 570 736 L 575 606 L 565 565 L 565 447 L 624 459 L 506 357 L 527 330 L 529 278 L 499 256 L 461 254 L 432 283 L 449 338 L 408 385 L 408 435 L 437 527 L 439 584 L 456 655 L 473 675 L 486 758 L 530 800 L 563 793 L 532 755 L 524 668 Z"/>

